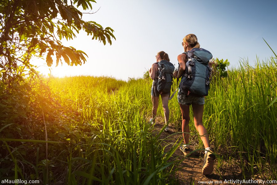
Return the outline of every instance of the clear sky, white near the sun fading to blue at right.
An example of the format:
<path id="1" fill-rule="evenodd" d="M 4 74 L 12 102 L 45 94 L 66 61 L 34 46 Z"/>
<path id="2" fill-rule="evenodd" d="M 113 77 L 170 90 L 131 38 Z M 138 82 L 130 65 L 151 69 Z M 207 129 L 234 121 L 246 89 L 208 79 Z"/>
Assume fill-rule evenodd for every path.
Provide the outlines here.
<path id="1" fill-rule="evenodd" d="M 275 0 L 98 0 L 92 10 L 98 12 L 84 14 L 83 19 L 111 27 L 116 40 L 104 46 L 83 32 L 72 41 L 63 40 L 64 45 L 85 51 L 89 57 L 82 66 L 53 66 L 52 74 L 139 78 L 159 51 L 167 52 L 177 67 L 182 39 L 189 33 L 195 34 L 200 46 L 214 58 L 228 59 L 230 66 L 247 58 L 254 65 L 256 55 L 260 60 L 273 55 L 262 38 L 277 53 L 276 7 Z"/>

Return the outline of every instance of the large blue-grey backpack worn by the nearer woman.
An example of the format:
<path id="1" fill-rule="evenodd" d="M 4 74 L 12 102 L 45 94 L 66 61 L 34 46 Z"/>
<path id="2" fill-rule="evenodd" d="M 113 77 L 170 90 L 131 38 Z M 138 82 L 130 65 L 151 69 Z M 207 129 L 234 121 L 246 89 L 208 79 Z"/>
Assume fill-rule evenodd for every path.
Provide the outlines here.
<path id="1" fill-rule="evenodd" d="M 179 85 L 181 91 L 195 97 L 207 96 L 211 77 L 208 64 L 213 55 L 203 48 L 193 48 L 184 54 L 187 55 L 187 63 Z"/>

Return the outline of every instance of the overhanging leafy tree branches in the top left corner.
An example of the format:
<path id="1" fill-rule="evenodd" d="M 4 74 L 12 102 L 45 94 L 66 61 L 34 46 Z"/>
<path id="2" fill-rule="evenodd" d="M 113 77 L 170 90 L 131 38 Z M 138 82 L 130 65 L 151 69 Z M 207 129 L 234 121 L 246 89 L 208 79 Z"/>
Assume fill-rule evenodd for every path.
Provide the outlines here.
<path id="1" fill-rule="evenodd" d="M 0 6 L 0 68 L 2 78 L 19 73 L 18 64 L 24 68 L 32 67 L 31 57 L 46 55 L 48 66 L 53 64 L 53 55 L 56 66 L 62 59 L 68 65 L 81 65 L 86 58 L 83 51 L 74 47 L 63 46 L 62 38 L 73 39 L 75 33 L 84 30 L 92 39 L 98 39 L 103 44 L 111 44 L 114 38 L 113 29 L 103 28 L 94 21 L 82 20 L 83 10 L 92 8 L 94 0 L 4 0 Z M 87 55 L 86 55 L 87 56 Z M 8 80 L 10 81 L 10 80 Z"/>

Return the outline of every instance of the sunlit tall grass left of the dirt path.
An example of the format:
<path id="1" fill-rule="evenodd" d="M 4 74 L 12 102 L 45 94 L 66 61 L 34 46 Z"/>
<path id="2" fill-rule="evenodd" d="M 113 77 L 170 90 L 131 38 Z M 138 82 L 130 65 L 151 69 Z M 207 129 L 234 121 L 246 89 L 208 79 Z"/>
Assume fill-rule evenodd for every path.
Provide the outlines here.
<path id="1" fill-rule="evenodd" d="M 174 183 L 172 168 L 178 161 L 169 158 L 178 145 L 164 152 L 159 135 L 149 130 L 149 80 L 127 83 L 79 76 L 53 79 L 51 85 L 60 98 L 74 101 L 70 104 L 80 112 L 82 123 L 76 126 L 87 129 L 69 137 L 74 145 L 64 161 L 69 184 Z"/>

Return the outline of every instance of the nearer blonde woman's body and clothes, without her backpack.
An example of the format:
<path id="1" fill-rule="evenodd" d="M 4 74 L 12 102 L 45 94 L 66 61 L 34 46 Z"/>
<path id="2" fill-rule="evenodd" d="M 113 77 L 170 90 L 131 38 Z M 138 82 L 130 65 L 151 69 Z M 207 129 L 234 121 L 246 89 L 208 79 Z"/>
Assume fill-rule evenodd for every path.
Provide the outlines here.
<path id="1" fill-rule="evenodd" d="M 190 51 L 193 48 L 200 48 L 197 37 L 194 34 L 186 35 L 183 38 L 182 46 L 184 51 Z M 212 57 L 212 56 L 211 56 Z M 184 77 L 184 72 L 186 69 L 187 55 L 182 53 L 177 57 L 179 62 L 179 70 L 176 71 L 173 76 L 176 78 Z M 195 78 L 196 80 L 196 78 Z M 203 175 L 211 174 L 214 168 L 215 162 L 215 154 L 211 152 L 209 136 L 207 134 L 207 130 L 203 125 L 203 110 L 204 110 L 204 97 L 196 97 L 190 94 L 189 91 L 187 93 L 182 92 L 179 87 L 178 91 L 178 103 L 180 105 L 181 113 L 182 113 L 182 132 L 184 144 L 180 146 L 180 150 L 184 153 L 185 156 L 188 156 L 191 152 L 189 145 L 189 121 L 190 121 L 190 105 L 192 105 L 192 111 L 194 116 L 194 125 L 196 130 L 198 131 L 200 138 L 205 147 L 205 158 L 204 165 L 202 169 Z"/>

